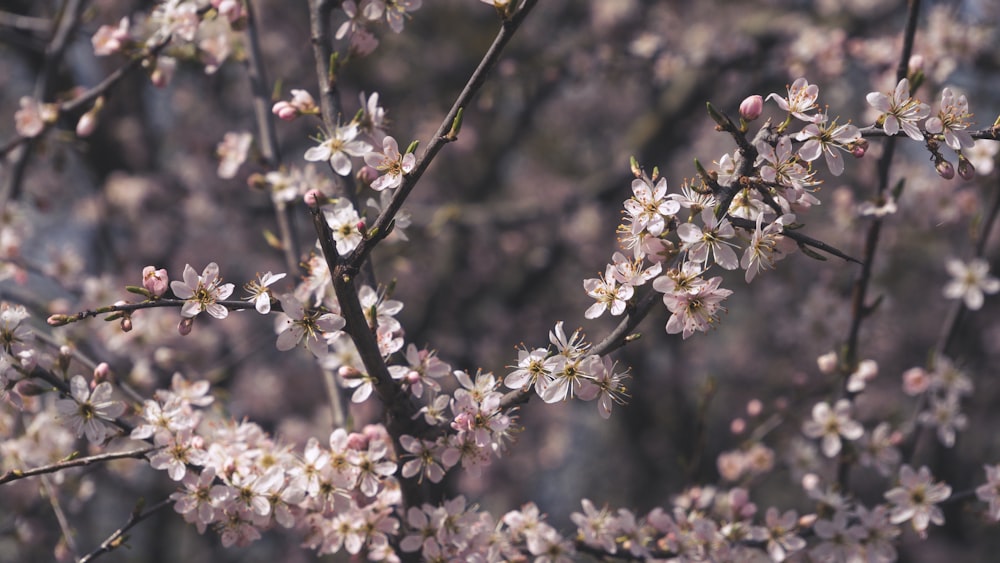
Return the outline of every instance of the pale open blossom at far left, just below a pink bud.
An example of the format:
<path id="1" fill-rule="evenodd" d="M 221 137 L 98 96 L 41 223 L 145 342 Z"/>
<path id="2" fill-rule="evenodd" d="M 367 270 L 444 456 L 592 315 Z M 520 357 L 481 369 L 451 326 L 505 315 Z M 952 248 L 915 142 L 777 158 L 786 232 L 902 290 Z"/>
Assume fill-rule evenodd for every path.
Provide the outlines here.
<path id="1" fill-rule="evenodd" d="M 99 444 L 117 431 L 109 423 L 125 412 L 125 403 L 111 400 L 110 383 L 102 381 L 91 391 L 82 375 L 74 375 L 69 387 L 68 398 L 56 401 L 56 410 L 77 437 L 86 435 L 90 443 Z"/>

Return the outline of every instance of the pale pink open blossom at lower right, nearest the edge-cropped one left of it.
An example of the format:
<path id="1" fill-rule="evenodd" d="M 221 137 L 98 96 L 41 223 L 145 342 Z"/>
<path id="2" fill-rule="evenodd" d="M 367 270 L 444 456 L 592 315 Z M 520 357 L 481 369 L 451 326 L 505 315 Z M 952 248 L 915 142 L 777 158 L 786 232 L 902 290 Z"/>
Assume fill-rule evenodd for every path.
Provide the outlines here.
<path id="1" fill-rule="evenodd" d="M 910 520 L 913 529 L 924 537 L 929 524 L 944 524 L 944 514 L 935 505 L 950 496 L 951 487 L 934 483 L 927 467 L 914 471 L 904 465 L 899 470 L 899 486 L 885 493 L 886 500 L 893 505 L 889 521 L 902 524 Z"/>

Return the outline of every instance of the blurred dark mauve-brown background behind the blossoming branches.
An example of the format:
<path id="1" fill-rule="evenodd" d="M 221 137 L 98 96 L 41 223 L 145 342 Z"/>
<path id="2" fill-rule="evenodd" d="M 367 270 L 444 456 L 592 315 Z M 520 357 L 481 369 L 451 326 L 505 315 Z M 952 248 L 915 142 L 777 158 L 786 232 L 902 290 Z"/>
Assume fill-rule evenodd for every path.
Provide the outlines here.
<path id="1" fill-rule="evenodd" d="M 100 25 L 148 13 L 152 5 L 90 2 L 53 92 L 93 86 L 121 65 L 121 56 L 95 57 L 90 37 Z M 18 100 L 31 94 L 43 60 L 50 33 L 44 22 L 58 6 L 8 0 L 0 8 L 0 115 L 8 116 L 0 119 L 0 141 L 14 135 Z M 306 3 L 257 0 L 253 7 L 270 83 L 280 84 L 286 98 L 291 88 L 315 95 Z M 436 349 L 456 369 L 502 377 L 516 347 L 545 346 L 559 320 L 599 341 L 616 319 L 583 318 L 591 300 L 582 280 L 602 273 L 618 248 L 621 204 L 631 195 L 629 157 L 646 171 L 659 167 L 677 190 L 695 175 L 694 158 L 708 166 L 735 149 L 714 130 L 705 102 L 735 117 L 746 96 L 785 95 L 800 76 L 819 85 L 819 103 L 831 117 L 870 125 L 875 115 L 865 94 L 895 85 L 905 15 L 901 0 L 540 2 L 465 111 L 458 141 L 442 151 L 405 206 L 409 240 L 390 239 L 374 256 L 378 281 L 395 282 L 393 298 L 405 304 L 399 319 L 407 342 Z M 916 97 L 936 111 L 941 88 L 950 86 L 968 95 L 976 128 L 991 125 L 1000 114 L 997 21 L 1000 6 L 989 0 L 924 2 L 915 54 L 927 81 Z M 376 51 L 345 65 L 338 81 L 345 117 L 360 107 L 362 93 L 378 92 L 389 134 L 401 146 L 426 145 L 497 29 L 495 11 L 481 2 L 426 0 L 404 33 L 382 26 Z M 264 232 L 276 231 L 270 197 L 246 182 L 268 170 L 251 155 L 235 178 L 216 174 L 223 134 L 256 133 L 243 37 L 234 33 L 232 40 L 231 60 L 214 74 L 183 60 L 165 88 L 132 74 L 107 99 L 91 137 L 76 138 L 74 124 L 65 123 L 35 143 L 20 190 L 0 217 L 3 239 L 17 243 L 0 249 L 4 301 L 25 304 L 41 323 L 52 312 L 127 299 L 124 285 L 138 285 L 148 264 L 178 278 L 185 264 L 200 271 L 215 261 L 238 287 L 257 273 L 285 271 L 280 253 L 265 242 Z M 784 115 L 769 102 L 767 117 Z M 280 122 L 278 132 L 283 164 L 302 168 L 316 122 Z M 856 207 L 875 193 L 880 146 L 873 139 L 868 155 L 848 161 L 840 177 L 819 165 L 826 182 L 814 195 L 822 205 L 799 215 L 802 232 L 860 256 L 868 222 Z M 945 260 L 972 255 L 983 214 L 1000 191 L 989 168 L 979 166 L 971 181 L 943 180 L 922 147 L 900 142 L 892 178 L 905 178 L 905 187 L 875 264 L 871 294 L 881 304 L 862 333 L 861 356 L 879 364 L 878 378 L 857 404 L 869 430 L 878 421 L 900 428 L 912 419 L 916 403 L 902 394 L 900 376 L 925 364 L 938 337 L 951 305 L 941 295 Z M 10 173 L 9 161 L 0 164 L 0 176 Z M 319 174 L 332 173 L 320 168 Z M 313 240 L 305 207 L 295 202 L 291 210 L 302 240 Z M 995 238 L 986 247 L 993 271 Z M 510 451 L 481 479 L 450 486 L 497 516 L 534 501 L 564 530 L 583 497 L 645 512 L 670 506 L 693 485 L 748 486 L 762 510 L 814 509 L 799 479 L 804 470 L 832 478 L 832 464 L 801 463 L 809 451 L 801 423 L 815 402 L 836 397 L 837 382 L 819 372 L 816 358 L 847 336 L 856 274 L 842 260 L 802 254 L 750 285 L 742 272 L 727 273 L 723 286 L 734 294 L 719 328 L 683 342 L 665 333 L 668 314 L 657 307 L 640 326 L 641 338 L 613 356 L 631 371 L 627 406 L 605 421 L 594 403 L 531 401 L 518 412 L 525 430 Z M 299 275 L 289 272 L 284 288 Z M 953 348 L 976 385 L 963 402 L 969 430 L 950 449 L 925 432 L 909 460 L 930 466 L 956 491 L 981 484 L 982 465 L 1000 459 L 991 431 L 998 423 L 991 406 L 1000 401 L 997 312 L 987 299 L 966 315 Z M 128 334 L 100 320 L 50 332 L 108 361 L 146 393 L 167 385 L 175 371 L 209 379 L 226 414 L 250 418 L 284 443 L 301 447 L 330 431 L 318 368 L 306 353 L 274 349 L 270 319 L 199 318 L 187 337 L 177 334 L 177 320 L 175 311 L 149 310 L 135 315 Z M 751 416 L 746 408 L 754 399 L 762 410 Z M 359 424 L 378 417 L 371 406 L 354 414 Z M 732 430 L 736 418 L 745 425 L 739 433 Z M 754 444 L 771 451 L 773 469 L 724 480 L 719 454 Z M 66 502 L 84 546 L 121 525 L 140 496 L 152 502 L 172 490 L 142 464 L 114 469 L 67 476 L 77 483 Z M 887 487 L 869 469 L 852 474 L 852 483 L 869 505 Z M 49 557 L 59 532 L 37 484 L 5 485 L 0 504 L 0 554 Z M 974 560 L 1000 547 L 978 508 L 951 505 L 946 517 L 927 542 L 904 535 L 901 559 Z M 249 548 L 223 550 L 214 534 L 199 536 L 168 510 L 134 530 L 130 549 L 105 560 L 312 559 L 298 542 L 294 533 L 271 532 Z"/>

